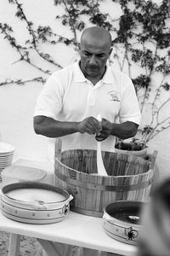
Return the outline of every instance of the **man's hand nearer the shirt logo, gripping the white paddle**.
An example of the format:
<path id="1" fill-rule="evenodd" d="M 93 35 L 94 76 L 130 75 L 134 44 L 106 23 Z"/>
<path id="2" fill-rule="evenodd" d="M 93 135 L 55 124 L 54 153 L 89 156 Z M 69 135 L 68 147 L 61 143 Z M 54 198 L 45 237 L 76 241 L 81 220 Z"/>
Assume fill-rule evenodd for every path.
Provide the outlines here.
<path id="1" fill-rule="evenodd" d="M 102 130 L 100 131 L 99 135 L 96 135 L 96 140 L 101 142 L 104 141 L 107 137 L 111 135 L 112 132 L 112 124 L 107 119 L 101 120 Z"/>

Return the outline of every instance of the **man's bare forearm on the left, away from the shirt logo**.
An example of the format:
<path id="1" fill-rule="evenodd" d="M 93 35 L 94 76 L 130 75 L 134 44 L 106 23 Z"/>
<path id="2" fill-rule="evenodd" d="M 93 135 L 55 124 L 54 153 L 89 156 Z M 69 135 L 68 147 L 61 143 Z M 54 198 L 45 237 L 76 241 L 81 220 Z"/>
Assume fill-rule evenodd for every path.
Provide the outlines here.
<path id="1" fill-rule="evenodd" d="M 62 137 L 78 131 L 77 122 L 59 122 L 46 117 L 34 118 L 34 130 L 46 137 Z"/>

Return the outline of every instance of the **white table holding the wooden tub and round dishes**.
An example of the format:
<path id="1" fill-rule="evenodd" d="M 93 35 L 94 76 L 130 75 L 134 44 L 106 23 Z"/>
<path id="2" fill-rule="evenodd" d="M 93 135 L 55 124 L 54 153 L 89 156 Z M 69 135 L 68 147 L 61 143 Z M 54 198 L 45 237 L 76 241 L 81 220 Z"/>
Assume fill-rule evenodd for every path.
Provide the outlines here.
<path id="1" fill-rule="evenodd" d="M 42 163 L 40 166 L 42 168 Z M 4 217 L 0 212 L 0 230 L 11 233 L 8 256 L 19 255 L 20 236 L 37 238 L 42 247 L 48 247 L 50 256 L 57 255 L 52 252 L 54 241 L 127 256 L 134 256 L 137 253 L 137 247 L 107 236 L 102 227 L 102 218 L 89 217 L 76 212 L 69 212 L 64 220 L 56 224 L 19 223 Z"/>

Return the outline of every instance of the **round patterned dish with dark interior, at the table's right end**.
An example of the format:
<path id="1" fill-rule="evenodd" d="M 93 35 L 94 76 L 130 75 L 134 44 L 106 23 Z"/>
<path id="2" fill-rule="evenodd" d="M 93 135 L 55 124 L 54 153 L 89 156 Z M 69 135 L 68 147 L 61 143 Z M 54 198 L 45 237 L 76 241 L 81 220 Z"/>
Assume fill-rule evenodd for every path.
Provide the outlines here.
<path id="1" fill-rule="evenodd" d="M 140 216 L 144 202 L 115 201 L 105 207 L 103 228 L 108 236 L 137 245 L 140 239 Z"/>

